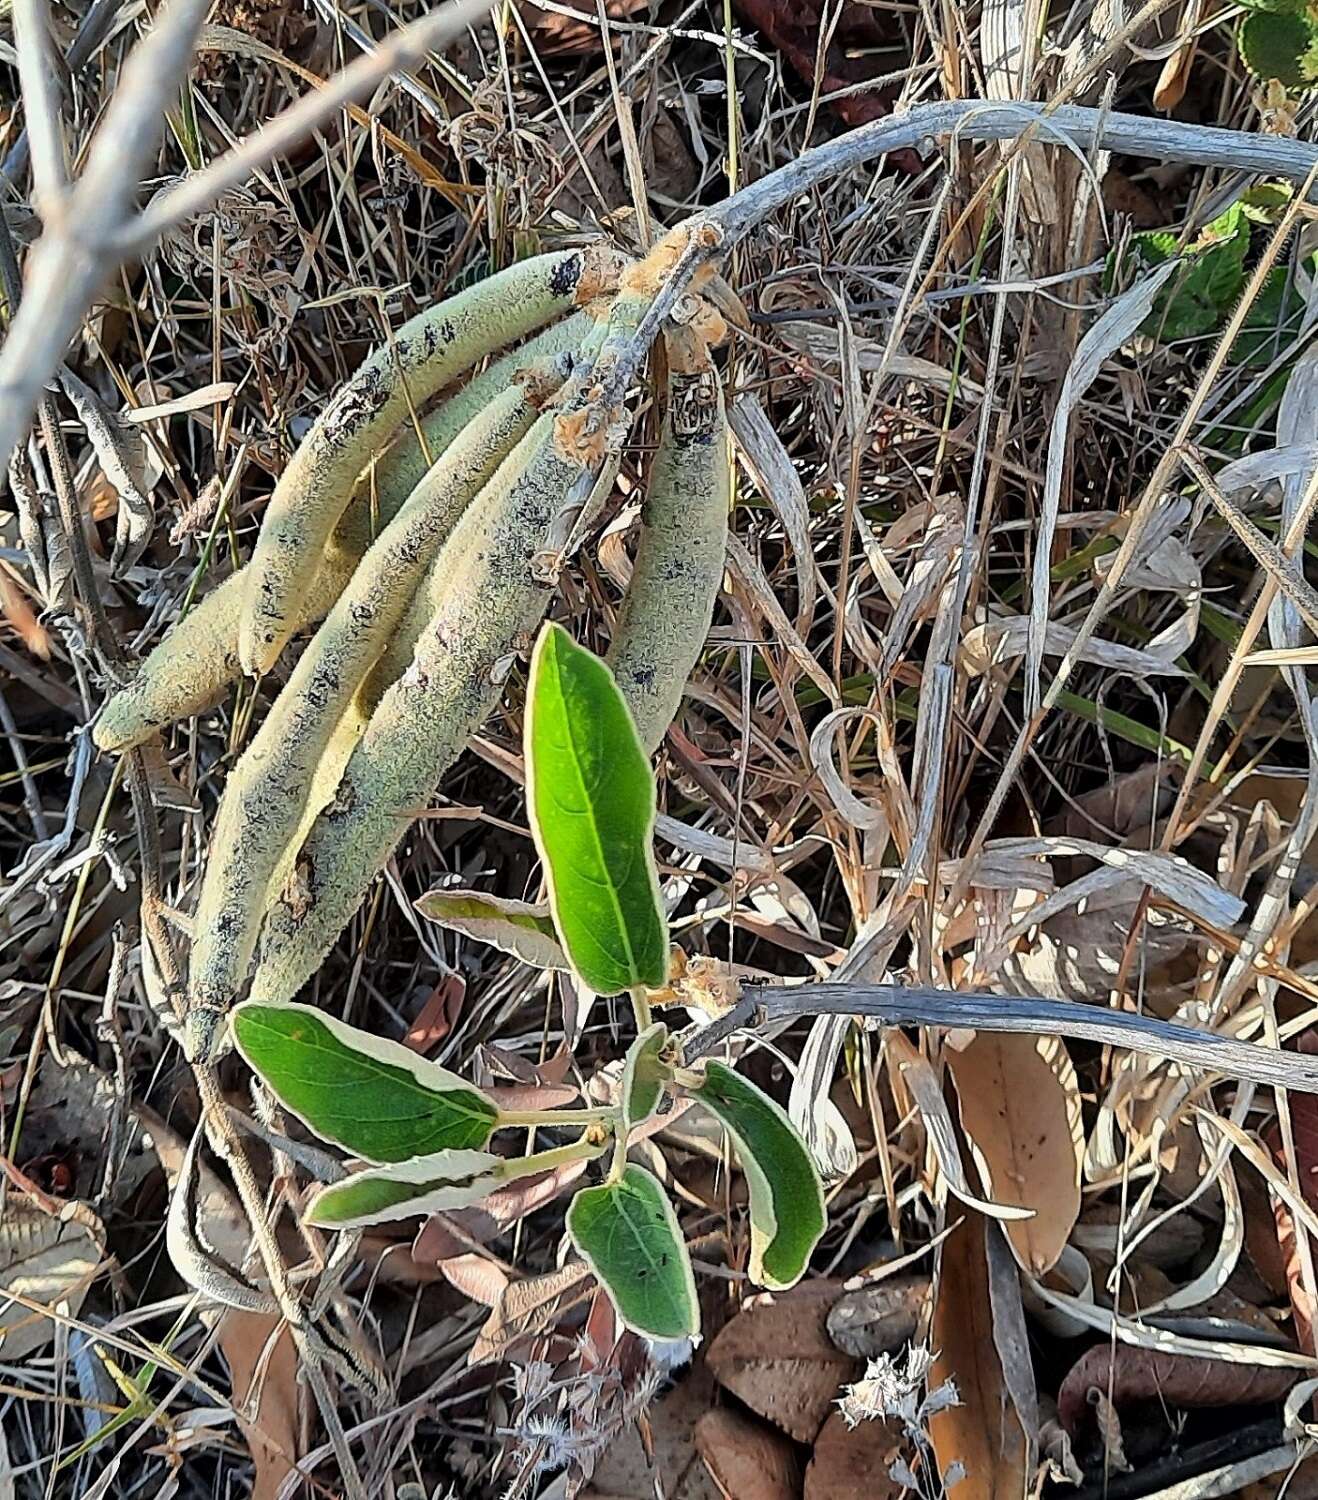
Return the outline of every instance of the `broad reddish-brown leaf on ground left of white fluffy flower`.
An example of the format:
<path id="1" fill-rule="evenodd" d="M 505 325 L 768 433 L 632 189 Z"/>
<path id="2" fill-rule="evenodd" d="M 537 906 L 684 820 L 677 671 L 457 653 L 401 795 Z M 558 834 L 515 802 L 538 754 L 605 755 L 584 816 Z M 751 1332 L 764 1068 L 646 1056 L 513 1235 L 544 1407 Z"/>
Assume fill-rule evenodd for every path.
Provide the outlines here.
<path id="1" fill-rule="evenodd" d="M 858 1374 L 858 1362 L 828 1336 L 837 1294 L 835 1281 L 807 1281 L 751 1298 L 705 1356 L 726 1390 L 798 1443 L 814 1440 L 838 1388 Z"/>

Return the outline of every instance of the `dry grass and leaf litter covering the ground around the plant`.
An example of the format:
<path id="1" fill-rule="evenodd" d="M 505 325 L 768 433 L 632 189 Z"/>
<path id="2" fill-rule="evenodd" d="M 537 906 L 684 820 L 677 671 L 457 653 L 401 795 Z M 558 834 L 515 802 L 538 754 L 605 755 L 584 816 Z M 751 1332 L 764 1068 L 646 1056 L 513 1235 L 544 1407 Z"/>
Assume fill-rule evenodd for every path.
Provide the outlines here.
<path id="1" fill-rule="evenodd" d="M 301 24 L 262 36 L 249 8 L 220 6 L 162 178 L 247 135 L 340 46 L 384 34 L 369 8 L 349 8 L 342 34 L 319 10 L 267 9 Z M 561 9 L 523 8 L 516 48 L 483 27 L 400 76 L 370 114 L 250 184 L 250 201 L 226 202 L 222 234 L 184 226 L 97 304 L 51 400 L 97 608 L 132 651 L 246 556 L 285 432 L 381 320 L 507 264 L 528 236 L 607 222 L 634 243 L 601 21 Z M 1203 8 L 1164 8 L 1131 34 L 1095 12 L 1020 66 L 1005 60 L 1030 18 L 1011 0 L 982 15 L 853 9 L 814 76 L 781 6 L 739 9 L 730 32 L 720 8 L 609 6 L 642 134 L 663 122 L 670 170 L 646 214 L 696 206 L 675 188 L 717 201 L 708 164 L 756 178 L 835 116 L 868 116 L 885 92 L 964 96 L 979 69 L 991 98 L 1107 80 L 1116 108 L 1147 111 L 1150 60 L 1177 60 L 1176 87 L 1206 122 L 1272 118 L 1234 72 L 1231 26 Z M 864 45 L 838 70 L 858 27 Z M 123 58 L 112 33 L 93 45 L 88 106 Z M 775 48 L 787 70 L 769 64 Z M 96 114 L 66 117 L 70 156 Z M 1066 996 L 1309 1052 L 1318 454 L 1296 206 L 1249 202 L 1248 225 L 1236 213 L 1206 232 L 1236 208 L 1227 160 L 1081 162 L 1047 138 L 1015 160 L 964 141 L 924 166 L 912 154 L 802 196 L 739 250 L 751 318 L 730 363 L 742 462 L 729 588 L 660 759 L 660 874 L 682 942 L 700 960 L 730 956 L 745 980 Z M 1120 180 L 1159 210 L 1171 238 L 1158 255 L 1132 246 Z M 625 456 L 622 496 L 645 465 L 640 446 Z M 171 542 L 214 482 L 219 508 Z M 193 1296 L 159 1254 L 201 1110 L 150 1005 L 139 831 L 111 768 L 70 744 L 117 668 L 70 614 L 42 444 L 19 454 L 9 494 L 0 1356 L 16 1386 L 0 1413 L 0 1474 L 15 1478 L 0 1485 L 163 1492 L 181 1470 L 261 1500 L 297 1492 L 289 1464 L 325 1484 L 333 1460 L 280 1318 L 223 1308 L 213 1278 Z M 1137 516 L 1152 522 L 1117 567 Z M 603 639 L 616 600 L 616 574 L 583 561 L 559 616 Z M 213 807 L 216 768 L 265 692 L 163 741 L 163 843 L 145 856 L 163 856 L 180 920 L 204 855 L 195 808 Z M 499 1082 L 492 1044 L 529 1070 L 567 1056 L 570 981 L 520 963 L 516 932 L 505 958 L 471 940 L 472 921 L 543 904 L 519 730 L 514 710 L 487 726 L 441 789 L 445 816 L 417 825 L 319 988 L 336 1014 L 409 1036 L 481 1088 Z M 411 912 L 429 891 L 490 904 L 423 942 Z M 612 1017 L 573 1004 L 583 1076 L 520 1084 L 589 1100 Z M 283 1252 L 343 1368 L 415 1382 L 387 1396 L 339 1383 L 381 1482 L 495 1496 L 525 1472 L 526 1492 L 549 1496 L 552 1466 L 528 1456 L 549 1454 L 600 1497 L 655 1484 L 847 1496 L 856 1476 L 867 1494 L 889 1482 L 930 1496 L 960 1476 L 951 1492 L 970 1497 L 1021 1492 L 1045 1470 L 1093 1486 L 1122 1466 L 1131 1496 L 1189 1492 L 1174 1486 L 1210 1473 L 1212 1492 L 1237 1479 L 1279 1492 L 1306 1440 L 1308 1398 L 1290 1425 L 1284 1398 L 1315 1368 L 1308 1095 L 1053 1036 L 882 1038 L 828 1018 L 759 1041 L 738 1047 L 829 1168 L 831 1227 L 805 1282 L 747 1299 L 735 1156 L 717 1131 L 661 1119 L 709 1332 L 694 1359 L 592 1317 L 589 1280 L 562 1251 L 565 1180 L 436 1214 L 418 1236 L 364 1236 L 322 1282 L 333 1245 L 295 1228 L 292 1158 L 262 1148 Z M 255 1112 L 271 1138 L 297 1136 L 274 1101 Z M 195 1250 L 261 1290 L 226 1168 L 198 1155 Z M 126 1377 L 108 1401 L 78 1374 L 79 1347 Z M 85 1450 L 75 1389 L 118 1418 Z"/>

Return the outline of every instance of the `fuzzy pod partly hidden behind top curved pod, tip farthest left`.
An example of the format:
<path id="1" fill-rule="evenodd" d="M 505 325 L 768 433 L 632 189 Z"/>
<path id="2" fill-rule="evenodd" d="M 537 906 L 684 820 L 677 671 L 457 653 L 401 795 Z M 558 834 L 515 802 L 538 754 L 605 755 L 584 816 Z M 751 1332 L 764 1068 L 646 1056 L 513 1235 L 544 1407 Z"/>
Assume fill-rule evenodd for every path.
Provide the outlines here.
<path id="1" fill-rule="evenodd" d="M 387 526 L 424 478 L 426 453 L 438 462 L 471 418 L 513 384 L 519 370 L 564 356 L 571 363 L 594 327 L 589 314 L 574 314 L 496 360 L 423 418 L 424 450 L 411 422 L 403 424 L 397 441 L 376 465 L 373 480 L 363 478 L 325 543 L 307 592 L 297 602 L 298 630 L 316 624 L 330 610 L 372 542 L 372 522 L 381 530 Z M 133 680 L 108 699 L 91 729 L 100 750 L 129 750 L 178 718 L 205 712 L 241 676 L 238 624 L 250 567 L 244 564 L 217 584 L 156 644 Z"/>

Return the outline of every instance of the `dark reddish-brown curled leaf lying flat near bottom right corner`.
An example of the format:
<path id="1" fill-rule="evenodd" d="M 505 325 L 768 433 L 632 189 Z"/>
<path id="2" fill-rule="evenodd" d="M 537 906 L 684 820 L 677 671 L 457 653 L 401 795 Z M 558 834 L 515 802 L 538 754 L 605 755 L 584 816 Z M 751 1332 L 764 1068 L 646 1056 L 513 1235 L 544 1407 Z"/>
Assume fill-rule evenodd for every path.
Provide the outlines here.
<path id="1" fill-rule="evenodd" d="M 1075 1434 L 1092 1408 L 1090 1390 L 1108 1396 L 1116 1407 L 1147 1400 L 1179 1407 L 1258 1406 L 1281 1401 L 1300 1374 L 1272 1365 L 1164 1354 L 1132 1344 L 1098 1344 L 1066 1372 L 1057 1392 L 1057 1414 L 1066 1431 Z"/>

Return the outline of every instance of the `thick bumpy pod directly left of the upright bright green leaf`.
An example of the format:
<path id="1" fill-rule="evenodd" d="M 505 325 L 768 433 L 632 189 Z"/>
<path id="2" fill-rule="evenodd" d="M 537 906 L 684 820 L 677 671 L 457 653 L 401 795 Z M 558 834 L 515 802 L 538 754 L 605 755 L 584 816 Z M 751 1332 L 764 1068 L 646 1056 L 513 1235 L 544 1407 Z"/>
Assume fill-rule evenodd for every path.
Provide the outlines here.
<path id="1" fill-rule="evenodd" d="M 291 999 L 357 910 L 366 888 L 444 771 L 498 702 L 519 639 L 552 596 L 537 568 L 564 504 L 589 471 L 565 454 L 546 412 L 468 508 L 435 562 L 442 602 L 406 672 L 385 690 L 339 795 L 298 858 L 295 891 L 265 920 L 252 996 Z"/>

